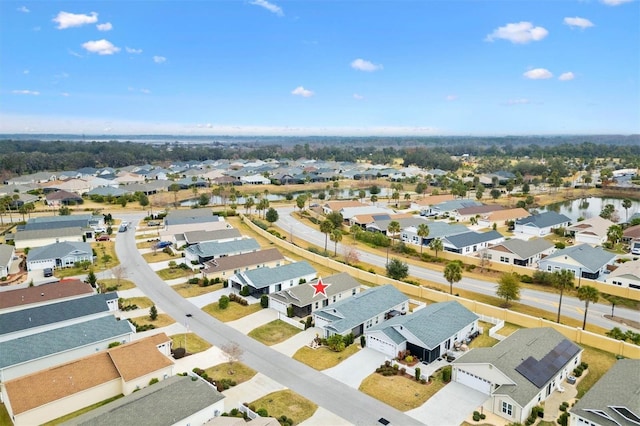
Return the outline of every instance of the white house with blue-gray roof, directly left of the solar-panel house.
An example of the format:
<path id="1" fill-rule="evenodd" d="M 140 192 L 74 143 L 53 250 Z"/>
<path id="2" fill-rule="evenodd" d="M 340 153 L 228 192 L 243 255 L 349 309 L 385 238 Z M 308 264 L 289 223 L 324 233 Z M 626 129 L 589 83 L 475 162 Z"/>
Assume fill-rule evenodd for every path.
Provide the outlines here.
<path id="1" fill-rule="evenodd" d="M 399 315 L 365 330 L 367 347 L 395 358 L 409 351 L 430 363 L 459 350 L 478 332 L 478 316 L 456 301 L 433 303 L 408 315 Z"/>

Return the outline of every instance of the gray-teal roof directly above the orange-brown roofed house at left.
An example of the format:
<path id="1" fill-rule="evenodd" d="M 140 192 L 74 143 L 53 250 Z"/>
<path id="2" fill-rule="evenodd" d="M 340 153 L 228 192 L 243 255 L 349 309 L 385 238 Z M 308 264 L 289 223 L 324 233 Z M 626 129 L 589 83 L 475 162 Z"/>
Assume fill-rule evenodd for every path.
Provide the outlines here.
<path id="1" fill-rule="evenodd" d="M 0 368 L 133 333 L 128 321 L 112 315 L 0 342 Z"/>

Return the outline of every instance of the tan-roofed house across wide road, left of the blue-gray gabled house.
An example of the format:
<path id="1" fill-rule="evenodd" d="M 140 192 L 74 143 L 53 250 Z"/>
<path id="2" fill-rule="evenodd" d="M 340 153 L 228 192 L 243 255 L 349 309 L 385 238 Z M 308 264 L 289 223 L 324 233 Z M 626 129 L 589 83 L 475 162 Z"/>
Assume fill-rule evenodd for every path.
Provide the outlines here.
<path id="1" fill-rule="evenodd" d="M 532 238 L 528 241 L 512 238 L 488 247 L 487 259 L 508 265 L 533 267 L 554 251 L 555 246 L 544 238 Z"/>

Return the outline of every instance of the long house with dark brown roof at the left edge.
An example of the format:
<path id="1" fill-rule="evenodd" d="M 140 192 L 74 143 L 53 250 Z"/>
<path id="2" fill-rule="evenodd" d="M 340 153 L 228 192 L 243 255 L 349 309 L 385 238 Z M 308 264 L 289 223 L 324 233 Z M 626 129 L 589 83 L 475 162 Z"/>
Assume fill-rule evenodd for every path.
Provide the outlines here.
<path id="1" fill-rule="evenodd" d="M 91 285 L 78 279 L 65 279 L 50 284 L 8 290 L 3 291 L 0 297 L 0 312 L 17 311 L 92 294 L 94 290 Z"/>

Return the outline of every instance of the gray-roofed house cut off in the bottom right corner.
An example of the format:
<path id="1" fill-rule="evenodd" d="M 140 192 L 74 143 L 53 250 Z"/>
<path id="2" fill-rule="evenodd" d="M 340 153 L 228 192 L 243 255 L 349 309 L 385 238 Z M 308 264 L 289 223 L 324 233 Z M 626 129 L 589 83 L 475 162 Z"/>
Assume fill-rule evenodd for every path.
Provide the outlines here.
<path id="1" fill-rule="evenodd" d="M 639 371 L 639 360 L 618 360 L 569 408 L 569 426 L 638 426 Z"/>

